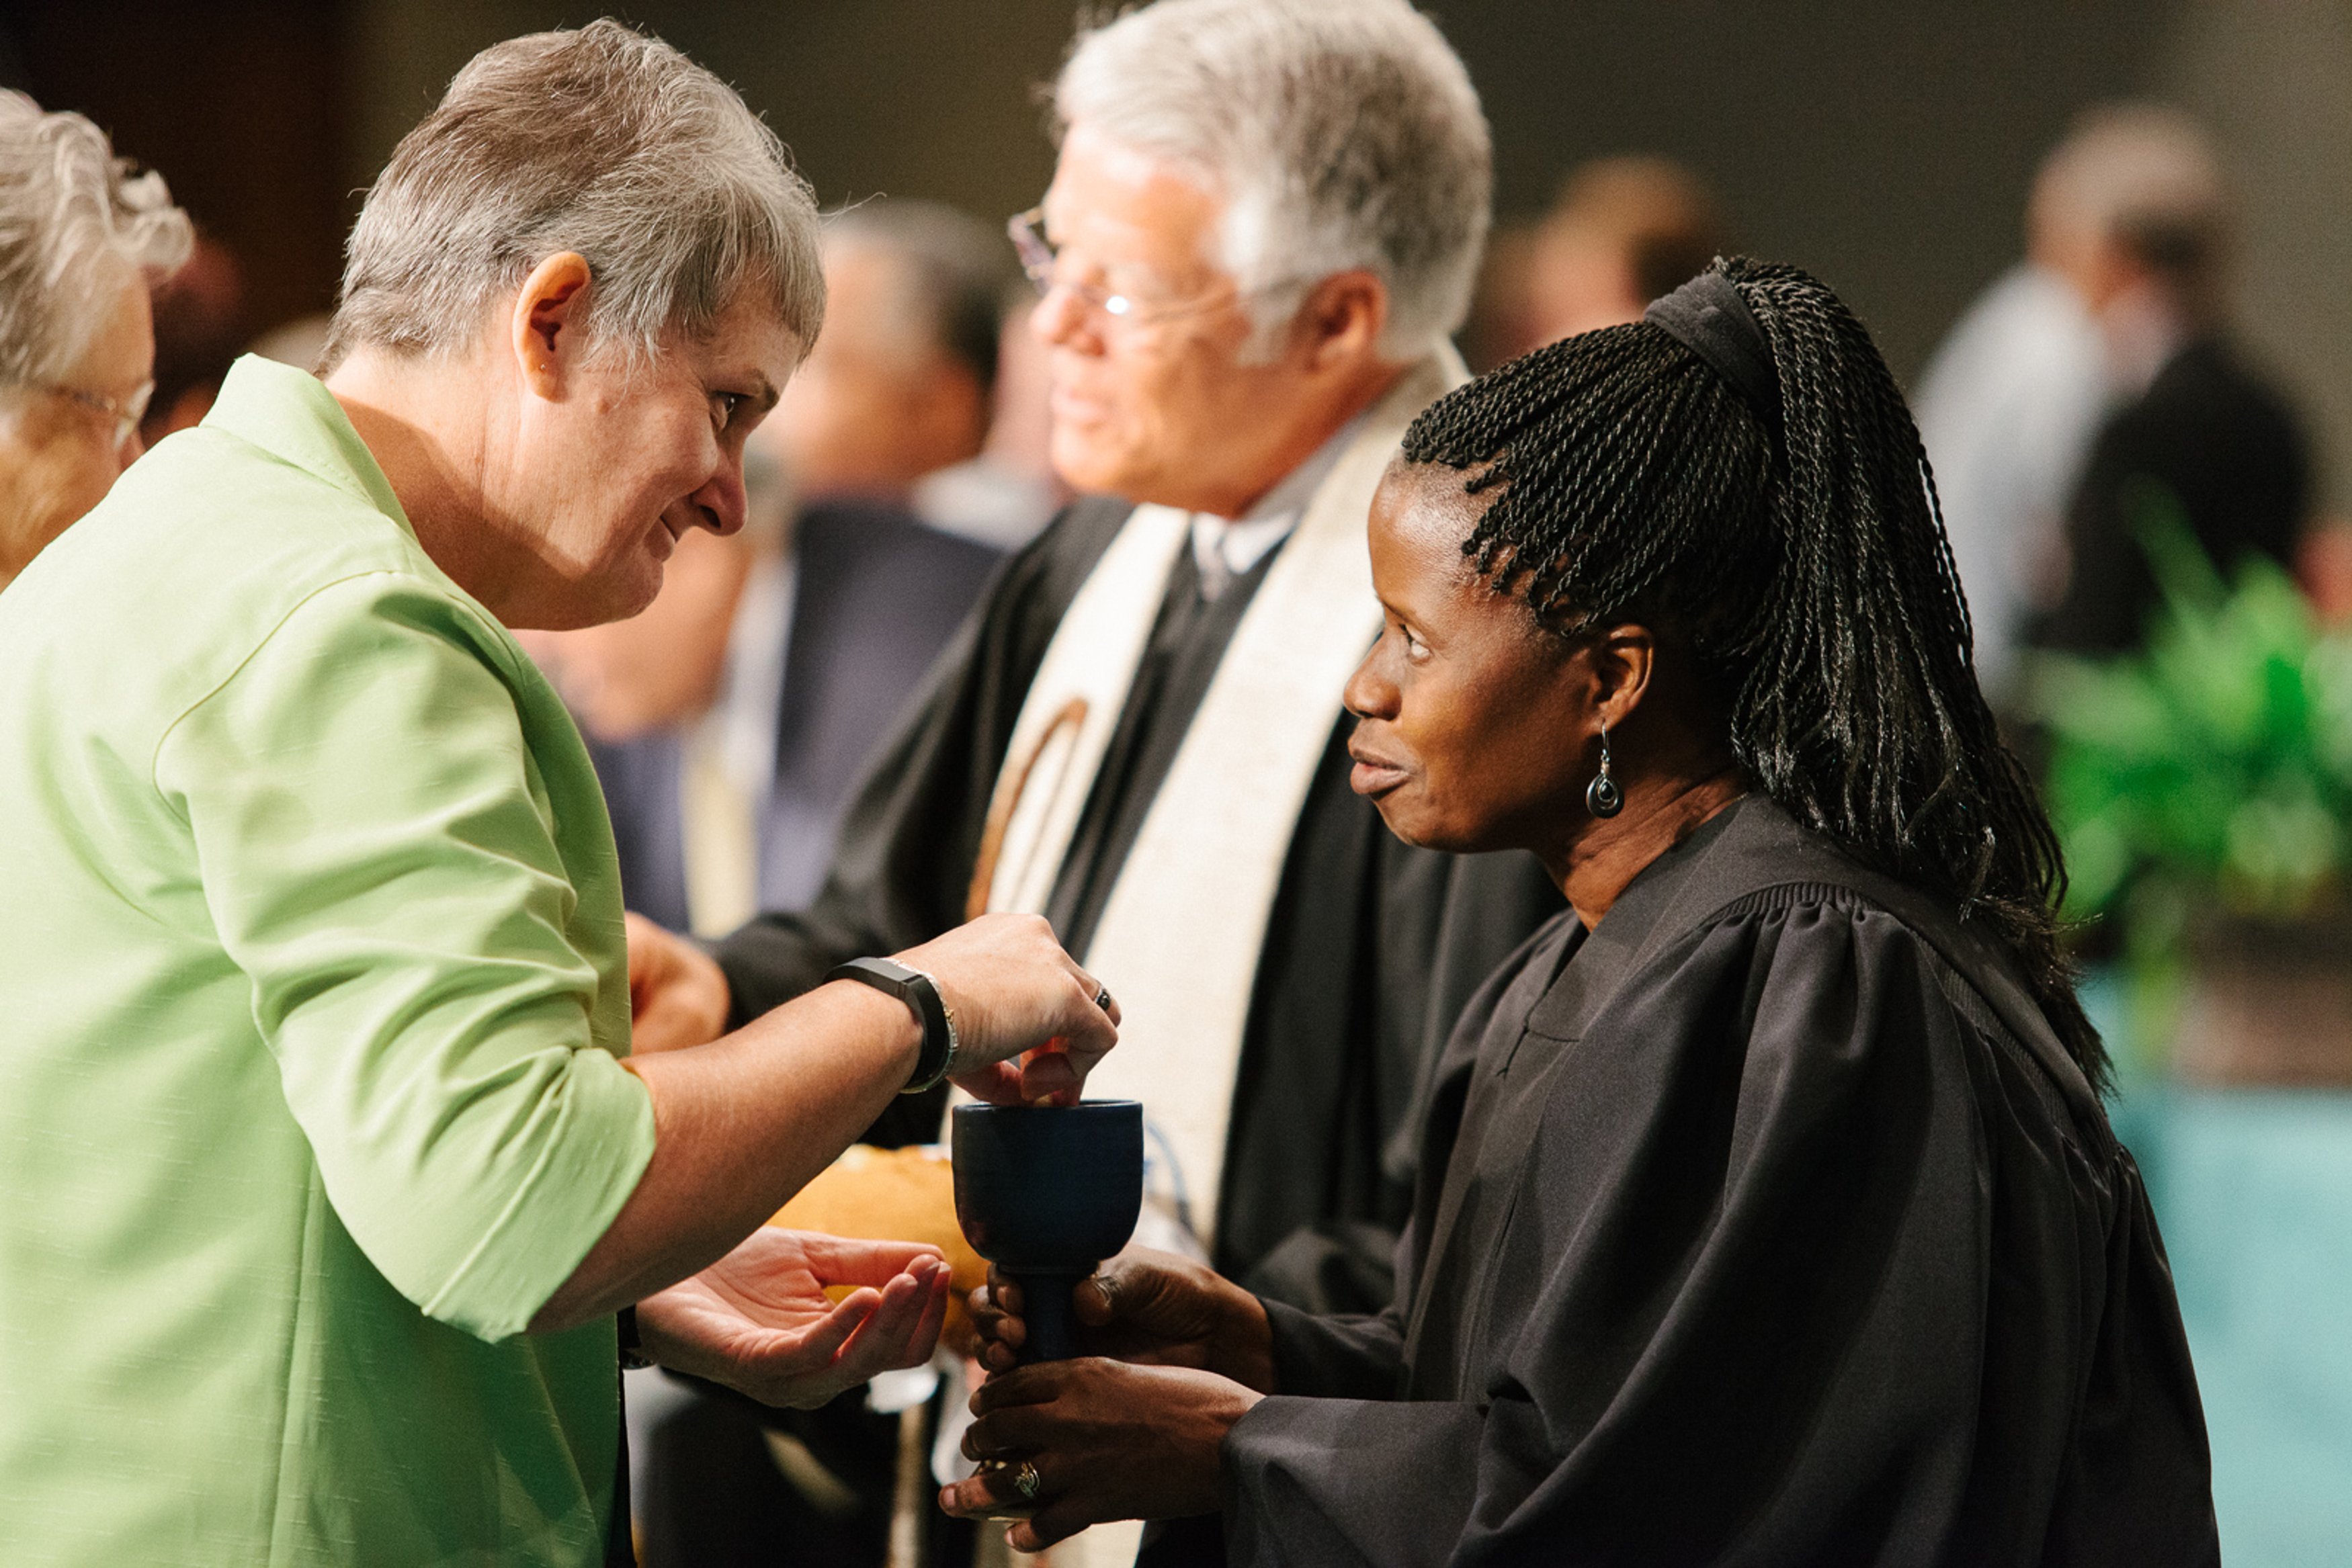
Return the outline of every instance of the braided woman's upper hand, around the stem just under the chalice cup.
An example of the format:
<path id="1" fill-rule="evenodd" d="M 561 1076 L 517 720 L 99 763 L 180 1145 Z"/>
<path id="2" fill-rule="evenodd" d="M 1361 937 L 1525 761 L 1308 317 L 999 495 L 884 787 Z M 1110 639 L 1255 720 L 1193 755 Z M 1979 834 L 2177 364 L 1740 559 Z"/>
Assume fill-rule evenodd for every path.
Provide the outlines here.
<path id="1" fill-rule="evenodd" d="M 1021 1286 L 988 1269 L 971 1293 L 978 1361 L 990 1373 L 1018 1366 L 1028 1340 Z M 1077 1347 L 1136 1366 L 1190 1366 L 1261 1394 L 1275 1392 L 1275 1340 L 1256 1295 L 1204 1262 L 1134 1248 L 1070 1288 Z"/>

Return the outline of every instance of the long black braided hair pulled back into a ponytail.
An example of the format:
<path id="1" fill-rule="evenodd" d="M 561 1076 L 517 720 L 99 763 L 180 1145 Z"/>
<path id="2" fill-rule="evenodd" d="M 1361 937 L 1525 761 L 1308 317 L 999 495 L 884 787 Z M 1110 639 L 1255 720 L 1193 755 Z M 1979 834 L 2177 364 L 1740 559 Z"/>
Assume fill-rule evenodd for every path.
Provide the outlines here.
<path id="1" fill-rule="evenodd" d="M 1830 289 L 1717 261 L 1771 343 L 1778 425 L 1653 322 L 1588 331 L 1435 402 L 1409 463 L 1496 491 L 1463 541 L 1578 637 L 1672 628 L 1750 780 L 1863 863 L 1980 917 L 2096 1086 L 2049 816 L 1976 686 L 1969 607 L 1893 374 Z"/>

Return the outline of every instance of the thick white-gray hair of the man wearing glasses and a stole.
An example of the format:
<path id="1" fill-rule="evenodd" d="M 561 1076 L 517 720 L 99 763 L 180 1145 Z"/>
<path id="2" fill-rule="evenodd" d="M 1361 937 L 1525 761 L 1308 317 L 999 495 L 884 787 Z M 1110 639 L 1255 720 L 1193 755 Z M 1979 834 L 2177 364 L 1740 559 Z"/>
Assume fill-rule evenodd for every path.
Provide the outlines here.
<path id="1" fill-rule="evenodd" d="M 1406 0 L 1160 0 L 1082 33 L 1054 85 L 1063 129 L 1200 169 L 1261 336 L 1319 280 L 1367 268 L 1385 348 L 1461 327 L 1494 190 L 1461 56 Z"/>

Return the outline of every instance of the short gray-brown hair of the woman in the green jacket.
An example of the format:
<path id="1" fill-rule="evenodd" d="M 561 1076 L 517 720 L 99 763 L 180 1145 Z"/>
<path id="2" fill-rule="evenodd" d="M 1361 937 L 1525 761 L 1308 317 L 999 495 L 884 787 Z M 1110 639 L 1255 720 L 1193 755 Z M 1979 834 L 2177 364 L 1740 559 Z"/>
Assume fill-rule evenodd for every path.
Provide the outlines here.
<path id="1" fill-rule="evenodd" d="M 402 136 L 350 230 L 322 367 L 470 346 L 548 256 L 588 259 L 588 339 L 652 357 L 760 289 L 816 339 L 816 202 L 720 78 L 619 21 L 492 45 Z"/>

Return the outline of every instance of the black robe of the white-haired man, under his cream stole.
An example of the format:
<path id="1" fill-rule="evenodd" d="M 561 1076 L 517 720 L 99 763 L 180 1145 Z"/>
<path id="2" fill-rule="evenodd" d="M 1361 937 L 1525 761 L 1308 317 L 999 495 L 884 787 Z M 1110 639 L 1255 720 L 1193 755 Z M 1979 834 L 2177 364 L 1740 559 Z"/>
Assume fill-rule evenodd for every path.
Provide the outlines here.
<path id="1" fill-rule="evenodd" d="M 1129 505 L 1084 501 L 1000 571 L 868 773 L 833 872 L 802 912 L 717 945 L 743 1023 L 826 969 L 964 919 L 981 830 L 1047 644 Z M 1277 548 L 1279 552 L 1279 548 Z M 1202 599 L 1181 552 L 1047 914 L 1084 957 L 1136 830 L 1272 555 Z M 1397 844 L 1348 790 L 1352 729 L 1331 741 L 1291 835 L 1258 959 L 1225 1145 L 1214 1262 L 1279 1300 L 1376 1309 L 1411 1199 L 1414 1105 L 1435 1046 L 1477 985 L 1559 907 L 1529 856 Z M 929 1140 L 941 1098 L 910 1098 L 877 1140 Z"/>

